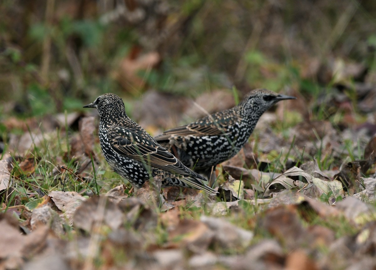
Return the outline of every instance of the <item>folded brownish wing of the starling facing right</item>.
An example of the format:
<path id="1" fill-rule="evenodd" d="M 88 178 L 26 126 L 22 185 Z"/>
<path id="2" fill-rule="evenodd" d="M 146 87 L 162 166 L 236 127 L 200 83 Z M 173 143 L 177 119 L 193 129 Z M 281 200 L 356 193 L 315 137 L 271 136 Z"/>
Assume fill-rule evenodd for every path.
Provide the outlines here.
<path id="1" fill-rule="evenodd" d="M 191 124 L 166 130 L 161 135 L 156 136 L 155 139 L 156 141 L 164 141 L 168 140 L 172 135 L 177 135 L 180 137 L 190 135 L 229 135 L 228 127 L 235 124 L 237 121 L 239 121 L 239 118 L 236 114 L 230 114 L 228 111 L 217 112 Z"/>

